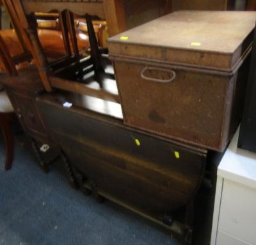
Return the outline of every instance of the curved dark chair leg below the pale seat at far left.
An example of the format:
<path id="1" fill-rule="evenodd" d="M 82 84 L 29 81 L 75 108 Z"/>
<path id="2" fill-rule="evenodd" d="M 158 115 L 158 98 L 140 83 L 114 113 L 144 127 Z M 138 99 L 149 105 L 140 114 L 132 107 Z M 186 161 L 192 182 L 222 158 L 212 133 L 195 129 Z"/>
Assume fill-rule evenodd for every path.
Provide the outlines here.
<path id="1" fill-rule="evenodd" d="M 1 129 L 4 135 L 4 141 L 6 145 L 6 160 L 5 160 L 5 170 L 9 170 L 12 166 L 13 161 L 13 152 L 14 152 L 14 143 L 13 143 L 13 135 L 8 120 L 1 117 Z"/>

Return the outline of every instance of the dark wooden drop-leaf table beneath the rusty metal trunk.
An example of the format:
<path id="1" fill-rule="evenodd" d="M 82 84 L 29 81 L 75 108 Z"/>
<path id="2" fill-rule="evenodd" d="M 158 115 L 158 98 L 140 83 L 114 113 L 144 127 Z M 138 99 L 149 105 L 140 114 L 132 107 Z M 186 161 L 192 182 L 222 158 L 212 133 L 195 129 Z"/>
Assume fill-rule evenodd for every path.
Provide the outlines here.
<path id="1" fill-rule="evenodd" d="M 206 150 L 131 129 L 122 122 L 120 105 L 106 100 L 58 91 L 36 102 L 86 193 L 179 227 L 175 231 L 189 241 Z M 188 209 L 186 222 L 173 225 L 173 211 L 180 207 Z"/>

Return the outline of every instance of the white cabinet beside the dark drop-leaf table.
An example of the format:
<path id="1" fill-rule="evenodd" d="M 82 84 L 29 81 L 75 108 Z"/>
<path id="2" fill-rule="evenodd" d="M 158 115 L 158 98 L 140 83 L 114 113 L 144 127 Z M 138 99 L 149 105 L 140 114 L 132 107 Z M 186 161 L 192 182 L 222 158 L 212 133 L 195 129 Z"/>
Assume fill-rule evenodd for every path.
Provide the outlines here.
<path id="1" fill-rule="evenodd" d="M 237 148 L 218 166 L 211 245 L 256 245 L 256 154 Z"/>

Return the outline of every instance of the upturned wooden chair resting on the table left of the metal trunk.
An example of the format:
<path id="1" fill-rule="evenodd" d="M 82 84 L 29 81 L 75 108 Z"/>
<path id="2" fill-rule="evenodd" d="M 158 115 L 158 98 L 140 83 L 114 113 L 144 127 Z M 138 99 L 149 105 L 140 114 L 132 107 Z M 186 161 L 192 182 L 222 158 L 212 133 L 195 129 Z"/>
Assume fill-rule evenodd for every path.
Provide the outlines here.
<path id="1" fill-rule="evenodd" d="M 108 55 L 99 48 L 92 19 L 105 19 L 103 1 L 4 0 L 12 22 L 19 29 L 26 47 L 36 61 L 45 90 L 56 89 L 81 93 L 120 103 L 113 68 Z M 65 56 L 49 59 L 40 38 L 36 13 L 59 13 Z M 86 19 L 90 47 L 79 49 L 74 15 Z M 54 42 L 54 41 L 53 41 Z M 90 50 L 90 56 L 88 56 Z M 111 83 L 108 86 L 106 83 Z M 113 84 L 115 84 L 113 86 Z M 107 89 L 108 88 L 108 89 Z"/>

